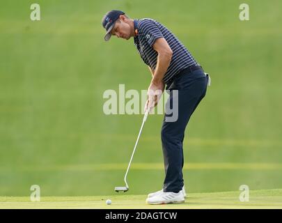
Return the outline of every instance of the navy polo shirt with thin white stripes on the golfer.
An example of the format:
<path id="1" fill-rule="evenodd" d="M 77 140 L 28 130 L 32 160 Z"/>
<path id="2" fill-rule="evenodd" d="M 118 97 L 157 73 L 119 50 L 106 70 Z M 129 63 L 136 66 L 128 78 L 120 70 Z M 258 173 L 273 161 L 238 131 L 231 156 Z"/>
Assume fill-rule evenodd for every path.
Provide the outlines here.
<path id="1" fill-rule="evenodd" d="M 134 29 L 137 29 L 138 34 L 134 37 L 134 45 L 144 63 L 150 66 L 152 70 L 155 70 L 157 66 L 157 52 L 152 48 L 157 38 L 165 38 L 173 51 L 171 63 L 163 77 L 165 84 L 168 84 L 171 78 L 177 75 L 180 70 L 189 66 L 198 65 L 188 49 L 166 28 L 166 26 L 149 18 L 135 21 L 138 22 L 138 24 Z"/>

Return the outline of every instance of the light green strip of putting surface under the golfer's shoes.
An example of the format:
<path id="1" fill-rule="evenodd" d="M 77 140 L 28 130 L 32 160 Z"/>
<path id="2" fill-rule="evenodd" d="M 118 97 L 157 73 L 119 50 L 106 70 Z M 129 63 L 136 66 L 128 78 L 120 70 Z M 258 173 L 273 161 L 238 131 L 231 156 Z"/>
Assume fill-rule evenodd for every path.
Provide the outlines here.
<path id="1" fill-rule="evenodd" d="M 42 197 L 40 202 L 31 202 L 29 197 L 0 197 L 0 208 L 282 208 L 282 189 L 251 190 L 245 202 L 239 196 L 240 191 L 192 193 L 185 203 L 154 206 L 145 203 L 146 195 Z M 106 204 L 107 199 L 111 199 L 111 205 Z"/>

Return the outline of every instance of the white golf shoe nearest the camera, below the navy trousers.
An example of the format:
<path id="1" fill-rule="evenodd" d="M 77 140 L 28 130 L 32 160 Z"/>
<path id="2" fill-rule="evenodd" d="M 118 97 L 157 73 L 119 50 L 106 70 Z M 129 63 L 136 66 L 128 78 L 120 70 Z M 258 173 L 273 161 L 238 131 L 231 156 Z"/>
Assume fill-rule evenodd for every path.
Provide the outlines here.
<path id="1" fill-rule="evenodd" d="M 173 192 L 159 192 L 153 197 L 148 197 L 146 203 L 148 204 L 164 204 L 164 203 L 183 203 L 185 197 L 183 192 L 180 190 L 178 193 Z"/>

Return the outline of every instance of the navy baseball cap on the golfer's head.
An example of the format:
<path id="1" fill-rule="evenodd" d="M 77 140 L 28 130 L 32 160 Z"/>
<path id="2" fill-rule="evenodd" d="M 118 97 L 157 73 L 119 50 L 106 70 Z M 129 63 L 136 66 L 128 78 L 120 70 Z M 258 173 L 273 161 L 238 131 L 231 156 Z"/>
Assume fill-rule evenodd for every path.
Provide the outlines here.
<path id="1" fill-rule="evenodd" d="M 106 29 L 107 33 L 104 36 L 104 40 L 109 41 L 111 38 L 111 29 L 113 29 L 113 26 L 116 23 L 116 20 L 120 17 L 120 15 L 125 15 L 123 11 L 120 10 L 111 10 L 104 15 L 102 19 L 102 25 L 104 29 Z"/>

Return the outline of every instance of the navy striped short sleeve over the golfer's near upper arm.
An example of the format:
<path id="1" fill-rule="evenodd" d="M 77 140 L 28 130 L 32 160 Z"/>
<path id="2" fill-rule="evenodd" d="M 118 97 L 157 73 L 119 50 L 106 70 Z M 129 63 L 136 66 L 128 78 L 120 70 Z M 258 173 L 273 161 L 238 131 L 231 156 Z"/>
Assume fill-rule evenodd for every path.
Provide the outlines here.
<path id="1" fill-rule="evenodd" d="M 143 38 L 145 38 L 150 47 L 152 47 L 152 45 L 155 43 L 155 40 L 164 37 L 162 32 L 159 30 L 159 26 L 157 26 L 154 20 L 144 20 L 140 29 Z"/>

